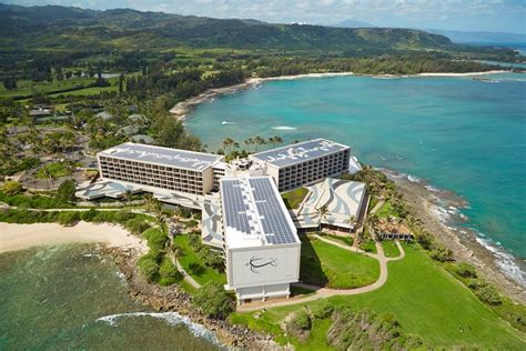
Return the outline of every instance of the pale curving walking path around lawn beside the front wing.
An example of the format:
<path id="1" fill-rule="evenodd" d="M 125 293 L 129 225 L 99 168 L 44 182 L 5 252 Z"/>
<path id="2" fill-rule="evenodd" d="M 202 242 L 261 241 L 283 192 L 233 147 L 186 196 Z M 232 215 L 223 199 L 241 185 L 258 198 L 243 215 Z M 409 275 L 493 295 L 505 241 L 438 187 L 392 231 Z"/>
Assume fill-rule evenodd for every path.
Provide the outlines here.
<path id="1" fill-rule="evenodd" d="M 304 283 L 295 283 L 293 285 L 295 287 L 301 287 L 310 290 L 315 290 L 315 293 L 308 297 L 299 297 L 299 298 L 292 298 L 292 299 L 283 299 L 283 300 L 274 300 L 274 301 L 267 301 L 267 302 L 253 302 L 253 303 L 247 303 L 247 304 L 242 304 L 237 307 L 239 312 L 250 312 L 250 311 L 257 311 L 264 308 L 273 308 L 273 307 L 281 307 L 281 305 L 290 305 L 290 304 L 296 304 L 296 303 L 304 303 L 304 302 L 310 302 L 310 301 L 315 301 L 318 299 L 325 299 L 325 298 L 331 298 L 331 297 L 336 297 L 336 295 L 356 295 L 365 292 L 371 292 L 376 289 L 380 289 L 385 282 L 387 281 L 387 262 L 390 261 L 397 261 L 402 260 L 405 258 L 405 251 L 402 248 L 401 243 L 396 241 L 396 245 L 398 247 L 399 250 L 399 255 L 396 258 L 386 258 L 384 254 L 384 249 L 382 248 L 382 243 L 376 242 L 376 251 L 377 253 L 371 253 L 371 252 L 365 252 L 358 248 L 353 248 L 345 245 L 343 243 L 340 243 L 337 241 L 320 237 L 317 234 L 314 235 L 314 238 L 322 240 L 326 243 L 336 245 L 338 248 L 342 248 L 344 250 L 348 250 L 352 252 L 356 253 L 363 253 L 366 254 L 371 258 L 374 258 L 378 260 L 380 263 L 380 278 L 376 280 L 374 283 L 367 287 L 362 287 L 362 288 L 355 288 L 355 289 L 330 289 L 330 288 L 321 288 L 321 287 L 315 287 L 315 285 L 310 285 L 310 284 L 304 284 Z"/>

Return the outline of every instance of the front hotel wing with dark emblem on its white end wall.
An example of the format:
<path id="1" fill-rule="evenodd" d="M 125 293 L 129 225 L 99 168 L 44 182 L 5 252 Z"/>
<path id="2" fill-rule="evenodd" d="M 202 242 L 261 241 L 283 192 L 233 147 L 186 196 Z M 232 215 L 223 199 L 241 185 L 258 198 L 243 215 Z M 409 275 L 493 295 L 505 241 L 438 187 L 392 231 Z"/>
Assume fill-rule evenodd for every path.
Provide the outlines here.
<path id="1" fill-rule="evenodd" d="M 301 241 L 272 179 L 223 178 L 221 202 L 227 288 L 240 303 L 289 297 Z"/>

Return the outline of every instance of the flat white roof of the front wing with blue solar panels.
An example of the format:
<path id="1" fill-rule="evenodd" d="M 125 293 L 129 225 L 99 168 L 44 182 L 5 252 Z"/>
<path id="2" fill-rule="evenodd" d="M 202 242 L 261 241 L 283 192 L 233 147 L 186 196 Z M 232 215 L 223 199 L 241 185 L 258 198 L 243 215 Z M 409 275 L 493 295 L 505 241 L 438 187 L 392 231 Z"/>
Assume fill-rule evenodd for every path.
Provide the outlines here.
<path id="1" fill-rule="evenodd" d="M 300 243 L 270 177 L 221 179 L 224 238 L 230 248 Z"/>

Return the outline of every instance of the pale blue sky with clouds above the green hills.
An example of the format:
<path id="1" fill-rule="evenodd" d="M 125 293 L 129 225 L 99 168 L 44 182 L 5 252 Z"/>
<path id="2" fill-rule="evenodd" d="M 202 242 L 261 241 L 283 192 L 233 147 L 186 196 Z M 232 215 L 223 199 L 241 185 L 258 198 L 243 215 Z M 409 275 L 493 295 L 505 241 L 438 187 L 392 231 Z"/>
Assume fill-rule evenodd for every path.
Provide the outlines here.
<path id="1" fill-rule="evenodd" d="M 132 8 L 267 22 L 337 23 L 352 19 L 380 27 L 525 33 L 526 0 L 0 0 L 105 10 Z"/>

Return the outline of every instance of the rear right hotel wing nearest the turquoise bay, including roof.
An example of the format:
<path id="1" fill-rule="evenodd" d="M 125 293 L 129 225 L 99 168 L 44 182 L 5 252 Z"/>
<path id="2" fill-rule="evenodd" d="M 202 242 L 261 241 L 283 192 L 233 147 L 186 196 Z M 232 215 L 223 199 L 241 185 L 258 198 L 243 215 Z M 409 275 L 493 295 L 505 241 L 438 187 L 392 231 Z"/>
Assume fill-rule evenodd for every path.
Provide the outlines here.
<path id="1" fill-rule="evenodd" d="M 348 170 L 351 148 L 326 139 L 314 139 L 250 156 L 266 166 L 281 192 L 313 183 Z"/>

